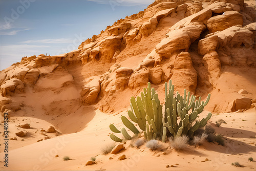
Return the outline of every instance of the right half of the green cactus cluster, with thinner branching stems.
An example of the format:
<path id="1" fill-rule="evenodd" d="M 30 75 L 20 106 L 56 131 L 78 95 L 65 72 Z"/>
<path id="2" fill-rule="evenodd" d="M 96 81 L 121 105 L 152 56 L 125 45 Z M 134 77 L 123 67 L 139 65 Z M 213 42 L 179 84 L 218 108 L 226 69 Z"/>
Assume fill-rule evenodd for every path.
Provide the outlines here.
<path id="1" fill-rule="evenodd" d="M 190 98 L 190 102 L 189 102 Z M 191 95 L 190 92 L 186 93 L 184 89 L 184 97 L 176 93 L 174 96 L 174 85 L 172 85 L 172 80 L 169 80 L 169 88 L 167 88 L 167 83 L 165 82 L 165 113 L 163 117 L 163 125 L 169 130 L 169 132 L 175 137 L 180 137 L 181 135 L 193 136 L 194 132 L 200 127 L 204 127 L 207 121 L 211 117 L 211 113 L 203 118 L 201 121 L 194 121 L 198 118 L 198 114 L 202 113 L 204 106 L 210 100 L 210 94 L 208 95 L 206 101 L 196 100 L 196 96 Z M 189 111 L 191 112 L 189 113 Z M 178 117 L 180 122 L 178 124 Z M 163 140 L 164 141 L 164 140 Z"/>

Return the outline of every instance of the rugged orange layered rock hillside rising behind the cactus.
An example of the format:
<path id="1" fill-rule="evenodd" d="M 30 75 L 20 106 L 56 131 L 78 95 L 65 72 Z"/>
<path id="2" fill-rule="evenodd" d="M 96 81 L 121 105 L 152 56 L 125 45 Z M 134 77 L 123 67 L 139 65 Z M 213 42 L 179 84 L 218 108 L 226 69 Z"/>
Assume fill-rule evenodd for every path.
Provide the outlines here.
<path id="1" fill-rule="evenodd" d="M 250 108 L 248 99 L 256 90 L 233 93 L 246 85 L 238 81 L 232 86 L 226 74 L 239 78 L 239 70 L 241 77 L 256 84 L 251 74 L 256 72 L 255 15 L 241 0 L 208 5 L 209 1 L 156 1 L 83 41 L 75 51 L 23 57 L 1 71 L 2 114 L 29 109 L 23 99 L 31 94 L 52 96 L 44 108 L 51 108 L 51 103 L 66 108 L 64 98 L 67 103 L 116 112 L 129 106 L 130 96 L 139 95 L 148 81 L 161 95 L 169 79 L 179 92 L 187 89 L 203 97 L 213 93 L 211 111 Z M 221 93 L 229 90 L 229 97 Z M 125 93 L 129 97 L 123 97 Z M 236 100 L 241 96 L 248 99 Z M 218 102 L 223 98 L 225 103 Z M 118 106 L 120 99 L 127 101 L 125 106 Z"/>

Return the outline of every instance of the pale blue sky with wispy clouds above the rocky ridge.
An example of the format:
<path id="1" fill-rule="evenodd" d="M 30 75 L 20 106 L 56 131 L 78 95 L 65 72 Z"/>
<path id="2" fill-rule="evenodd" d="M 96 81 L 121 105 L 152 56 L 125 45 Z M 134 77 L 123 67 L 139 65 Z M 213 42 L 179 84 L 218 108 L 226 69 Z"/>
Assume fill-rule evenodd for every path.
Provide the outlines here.
<path id="1" fill-rule="evenodd" d="M 0 70 L 23 56 L 58 55 L 154 0 L 0 0 Z"/>

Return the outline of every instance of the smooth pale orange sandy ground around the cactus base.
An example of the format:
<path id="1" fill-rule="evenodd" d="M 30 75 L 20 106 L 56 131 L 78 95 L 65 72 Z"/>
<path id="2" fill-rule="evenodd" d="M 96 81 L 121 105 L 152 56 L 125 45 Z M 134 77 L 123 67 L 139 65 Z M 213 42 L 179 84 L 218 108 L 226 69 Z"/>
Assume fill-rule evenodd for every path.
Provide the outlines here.
<path id="1" fill-rule="evenodd" d="M 256 158 L 255 109 L 243 113 L 214 114 L 212 116 L 210 124 L 218 134 L 224 135 L 225 146 L 204 142 L 199 147 L 188 145 L 183 151 L 176 152 L 169 148 L 168 143 L 165 143 L 161 150 L 152 152 L 145 145 L 139 149 L 131 147 L 129 146 L 130 141 L 127 141 L 126 150 L 116 155 L 102 155 L 101 148 L 114 143 L 108 136 L 111 133 L 108 125 L 115 123 L 120 128 L 122 126 L 120 117 L 126 115 L 126 112 L 108 115 L 97 110 L 93 118 L 86 118 L 85 116 L 89 114 L 84 114 L 79 118 L 85 123 L 88 122 L 82 131 L 57 137 L 54 133 L 47 133 L 52 138 L 37 143 L 35 143 L 36 140 L 40 139 L 42 135 L 33 132 L 40 127 L 47 127 L 48 122 L 32 117 L 11 118 L 17 123 L 18 120 L 24 119 L 31 123 L 32 129 L 26 130 L 31 134 L 29 137 L 23 138 L 24 141 L 20 141 L 21 138 L 18 138 L 17 141 L 9 141 L 9 167 L 7 170 L 253 170 L 256 167 L 255 161 L 248 160 L 249 157 Z M 205 111 L 200 117 L 206 114 Z M 66 116 L 60 116 L 60 119 L 61 117 Z M 222 123 L 220 127 L 216 127 L 215 121 L 218 119 L 225 120 L 226 124 Z M 36 122 L 39 124 L 35 124 Z M 15 124 L 9 123 L 10 137 L 17 129 Z M 67 127 L 69 127 L 68 124 Z M 162 155 L 161 151 L 165 151 L 167 155 Z M 1 152 L 0 157 L 3 159 L 3 148 L 1 148 Z M 122 154 L 125 154 L 126 159 L 119 161 L 118 157 Z M 59 157 L 55 158 L 55 155 Z M 71 160 L 63 161 L 64 156 L 69 156 Z M 94 156 L 96 156 L 97 164 L 85 166 L 86 161 Z M 109 160 L 110 157 L 113 160 Z M 206 158 L 209 161 L 201 162 Z M 236 161 L 243 167 L 231 166 L 231 163 Z M 0 164 L 1 169 L 5 170 L 3 161 Z M 175 167 L 166 168 L 166 165 Z"/>

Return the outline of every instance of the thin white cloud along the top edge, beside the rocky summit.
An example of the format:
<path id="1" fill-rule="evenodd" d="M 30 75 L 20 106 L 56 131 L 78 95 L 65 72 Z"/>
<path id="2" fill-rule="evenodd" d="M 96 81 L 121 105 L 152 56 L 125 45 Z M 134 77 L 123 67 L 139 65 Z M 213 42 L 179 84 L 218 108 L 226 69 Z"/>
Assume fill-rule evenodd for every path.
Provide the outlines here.
<path id="1" fill-rule="evenodd" d="M 154 0 L 87 0 L 98 4 L 110 4 L 115 6 L 136 6 L 136 5 L 150 5 Z"/>

